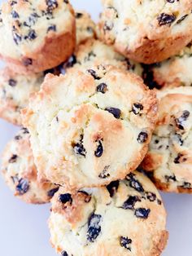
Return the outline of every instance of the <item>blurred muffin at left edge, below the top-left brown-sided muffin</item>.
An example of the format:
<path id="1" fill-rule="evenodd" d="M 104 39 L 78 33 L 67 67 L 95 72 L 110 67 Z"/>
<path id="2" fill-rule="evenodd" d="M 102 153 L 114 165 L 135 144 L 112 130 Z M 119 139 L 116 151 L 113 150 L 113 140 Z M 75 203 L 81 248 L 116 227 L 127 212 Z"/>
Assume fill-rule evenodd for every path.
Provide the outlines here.
<path id="1" fill-rule="evenodd" d="M 17 74 L 10 68 L 0 71 L 0 117 L 21 125 L 20 110 L 28 105 L 29 95 L 40 89 L 43 73 Z"/>

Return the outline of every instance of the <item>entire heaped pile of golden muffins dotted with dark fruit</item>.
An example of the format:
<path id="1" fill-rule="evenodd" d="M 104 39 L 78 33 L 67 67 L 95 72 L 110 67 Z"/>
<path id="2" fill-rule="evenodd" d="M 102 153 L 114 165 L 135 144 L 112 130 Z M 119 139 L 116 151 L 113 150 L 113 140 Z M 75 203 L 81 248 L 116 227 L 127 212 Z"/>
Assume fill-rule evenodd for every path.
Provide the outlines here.
<path id="1" fill-rule="evenodd" d="M 103 0 L 96 25 L 68 0 L 2 4 L 0 116 L 21 126 L 2 174 L 21 200 L 51 201 L 60 255 L 164 249 L 157 188 L 192 192 L 191 10 Z"/>

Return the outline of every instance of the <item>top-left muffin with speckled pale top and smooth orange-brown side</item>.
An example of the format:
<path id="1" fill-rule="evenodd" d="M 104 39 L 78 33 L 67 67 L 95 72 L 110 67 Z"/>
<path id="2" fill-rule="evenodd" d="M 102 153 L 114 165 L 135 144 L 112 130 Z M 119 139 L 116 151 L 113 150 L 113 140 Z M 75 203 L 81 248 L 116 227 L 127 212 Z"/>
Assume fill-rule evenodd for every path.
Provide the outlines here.
<path id="1" fill-rule="evenodd" d="M 49 68 L 54 68 L 55 66 L 61 64 L 63 61 L 68 60 L 68 57 L 72 55 L 72 52 L 76 46 L 76 21 L 74 11 L 69 3 L 67 3 L 68 7 L 65 7 L 65 2 L 57 0 L 56 7 L 51 7 L 53 9 L 50 9 L 49 12 L 46 10 L 46 8 L 49 8 L 48 3 L 48 6 L 46 7 L 46 4 L 43 1 L 39 3 L 39 6 L 37 6 L 37 3 L 33 3 L 33 0 L 30 1 L 32 2 L 32 5 L 34 4 L 35 8 L 37 8 L 37 10 L 35 10 L 37 11 L 36 22 L 40 22 L 38 19 L 44 19 L 44 15 L 55 14 L 55 10 L 57 11 L 57 8 L 59 8 L 59 11 L 62 8 L 67 8 L 64 10 L 68 11 L 68 22 L 65 22 L 66 18 L 63 15 L 63 23 L 65 26 L 63 29 L 60 29 L 61 21 L 59 20 L 59 31 L 56 31 L 54 30 L 55 27 L 54 29 L 49 27 L 50 23 L 47 21 L 49 18 L 46 21 L 43 20 L 43 22 L 47 23 L 47 31 L 45 32 L 44 30 L 40 30 L 42 38 L 38 39 L 39 37 L 37 37 L 37 35 L 33 35 L 33 38 L 28 39 L 27 36 L 22 34 L 26 33 L 26 28 L 30 28 L 29 33 L 31 33 L 31 31 L 36 33 L 35 28 L 39 29 L 37 28 L 38 23 L 36 24 L 35 21 L 33 21 L 34 24 L 30 24 L 30 26 L 28 24 L 26 25 L 28 22 L 27 19 L 29 19 L 27 13 L 31 8 L 31 2 L 28 3 L 24 2 L 23 0 L 18 0 L 14 5 L 11 5 L 11 1 L 4 3 L 2 5 L 2 24 L 0 26 L 0 34 L 7 31 L 5 30 L 5 26 L 7 26 L 8 29 L 12 29 L 11 25 L 13 25 L 16 29 L 15 31 L 17 33 L 17 37 L 19 37 L 18 33 L 20 33 L 21 39 L 17 39 L 19 42 L 14 42 L 16 39 L 12 38 L 10 31 L 7 31 L 4 37 L 7 36 L 7 41 L 10 41 L 9 44 L 14 50 L 10 53 L 9 51 L 5 51 L 5 47 L 7 46 L 5 43 L 2 43 L 0 44 L 0 57 L 2 60 L 7 61 L 7 63 L 9 63 L 9 67 L 15 70 L 17 73 L 38 73 Z M 20 15 L 24 15 L 20 12 L 20 9 L 22 10 L 23 8 L 26 9 L 26 15 L 24 16 L 26 19 L 25 24 L 20 23 Z M 18 20 L 14 17 L 12 17 L 13 20 L 9 20 L 11 19 L 11 13 L 13 13 L 11 10 L 16 10 L 18 12 L 16 12 L 17 15 L 19 15 Z M 38 12 L 41 13 L 41 16 Z M 32 13 L 31 15 L 34 14 Z M 57 19 L 59 19 L 58 16 L 54 19 L 55 26 L 57 25 Z M 20 23 L 20 26 L 18 26 L 18 23 Z M 21 40 L 25 41 L 23 42 Z M 37 40 L 41 42 L 37 43 Z"/>

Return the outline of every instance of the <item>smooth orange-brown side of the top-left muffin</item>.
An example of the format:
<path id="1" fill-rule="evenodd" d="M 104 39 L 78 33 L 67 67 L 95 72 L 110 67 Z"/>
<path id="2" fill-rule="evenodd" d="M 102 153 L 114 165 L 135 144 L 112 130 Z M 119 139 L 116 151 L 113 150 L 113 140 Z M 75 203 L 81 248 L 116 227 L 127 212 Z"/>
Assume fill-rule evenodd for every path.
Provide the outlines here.
<path id="1" fill-rule="evenodd" d="M 63 61 L 68 60 L 75 50 L 75 32 L 76 26 L 74 21 L 72 33 L 64 33 L 54 38 L 46 38 L 46 43 L 41 49 L 33 52 L 31 55 L 23 56 L 21 60 L 11 59 L 11 57 L 4 55 L 0 55 L 0 57 L 9 64 L 9 68 L 17 73 L 37 73 L 54 68 Z M 65 50 L 63 51 L 63 49 Z M 28 63 L 28 59 L 29 63 L 30 59 L 32 60 L 32 64 L 24 65 L 24 63 Z"/>

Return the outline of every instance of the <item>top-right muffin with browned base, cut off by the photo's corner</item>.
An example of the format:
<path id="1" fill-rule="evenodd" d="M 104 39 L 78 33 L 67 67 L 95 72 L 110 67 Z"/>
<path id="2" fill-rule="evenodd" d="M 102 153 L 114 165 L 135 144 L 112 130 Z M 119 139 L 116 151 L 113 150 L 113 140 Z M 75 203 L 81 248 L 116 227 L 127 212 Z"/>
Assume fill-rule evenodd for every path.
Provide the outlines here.
<path id="1" fill-rule="evenodd" d="M 124 56 L 151 64 L 192 40 L 191 0 L 103 0 L 100 37 Z"/>

